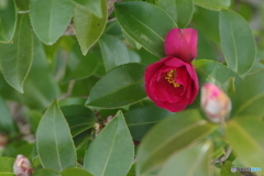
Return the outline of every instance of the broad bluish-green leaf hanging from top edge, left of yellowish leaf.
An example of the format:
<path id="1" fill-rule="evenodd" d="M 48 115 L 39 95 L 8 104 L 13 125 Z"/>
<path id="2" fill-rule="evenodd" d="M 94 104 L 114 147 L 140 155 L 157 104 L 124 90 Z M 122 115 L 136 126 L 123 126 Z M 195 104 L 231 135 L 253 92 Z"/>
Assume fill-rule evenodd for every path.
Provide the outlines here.
<path id="1" fill-rule="evenodd" d="M 74 12 L 72 0 L 31 0 L 31 24 L 46 45 L 54 44 L 68 26 Z"/>

